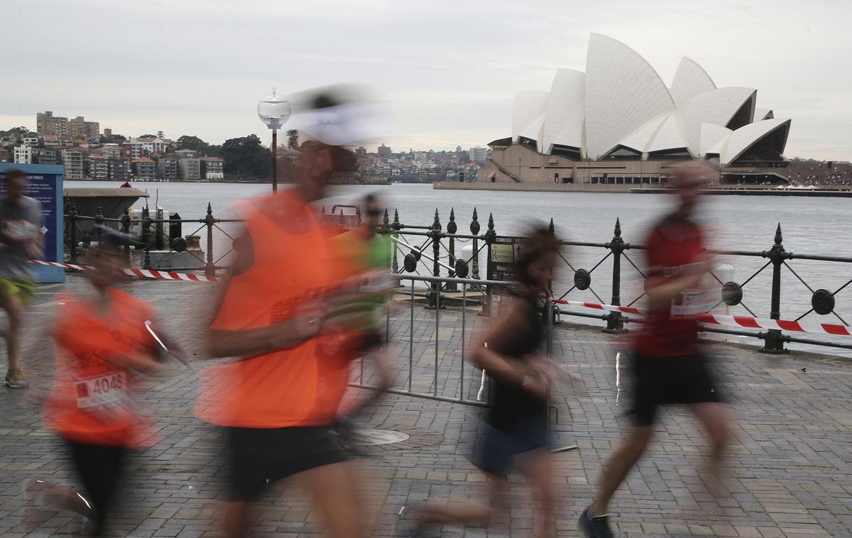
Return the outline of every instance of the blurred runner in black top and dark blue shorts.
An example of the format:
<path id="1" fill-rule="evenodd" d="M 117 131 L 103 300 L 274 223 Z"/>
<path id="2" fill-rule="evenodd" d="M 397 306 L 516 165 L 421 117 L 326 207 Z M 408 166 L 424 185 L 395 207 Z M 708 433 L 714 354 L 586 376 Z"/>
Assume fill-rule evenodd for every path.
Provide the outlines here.
<path id="1" fill-rule="evenodd" d="M 509 485 L 506 475 L 514 467 L 533 487 L 534 506 L 538 508 L 533 535 L 542 538 L 555 533 L 546 406 L 556 367 L 550 358 L 539 354 L 544 324 L 538 312 L 538 297 L 548 291 L 560 244 L 541 226 L 526 237 L 530 242 L 524 243 L 521 255 L 515 259 L 517 292 L 501 301 L 500 318 L 475 347 L 472 358 L 493 380 L 493 405 L 481 424 L 475 455 L 475 465 L 486 474 L 488 504 L 451 500 L 446 507 L 410 506 L 424 522 L 488 521 L 500 512 L 498 501 Z"/>

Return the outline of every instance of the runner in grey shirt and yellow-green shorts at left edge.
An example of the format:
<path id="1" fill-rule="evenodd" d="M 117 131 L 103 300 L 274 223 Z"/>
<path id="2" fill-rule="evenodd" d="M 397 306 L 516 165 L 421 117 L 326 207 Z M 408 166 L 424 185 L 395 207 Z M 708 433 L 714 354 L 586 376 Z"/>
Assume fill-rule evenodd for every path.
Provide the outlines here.
<path id="1" fill-rule="evenodd" d="M 20 327 L 24 307 L 35 291 L 30 260 L 42 258 L 42 205 L 25 192 L 26 175 L 9 170 L 0 198 L 0 308 L 9 316 L 9 327 L 3 331 L 9 351 L 4 382 L 11 388 L 29 386 L 20 371 Z"/>

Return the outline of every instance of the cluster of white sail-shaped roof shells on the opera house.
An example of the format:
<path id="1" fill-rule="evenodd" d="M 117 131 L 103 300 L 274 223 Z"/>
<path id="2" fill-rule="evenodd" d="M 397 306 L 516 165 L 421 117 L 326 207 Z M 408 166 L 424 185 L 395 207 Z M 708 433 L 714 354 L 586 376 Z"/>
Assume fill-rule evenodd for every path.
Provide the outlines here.
<path id="1" fill-rule="evenodd" d="M 545 154 L 554 152 L 554 146 L 577 147 L 591 158 L 617 146 L 642 153 L 686 148 L 696 157 L 708 152 L 721 156 L 729 140 L 757 133 L 746 130 L 734 137 L 728 126 L 774 118 L 770 109 L 756 110 L 756 100 L 755 89 L 716 88 L 689 58 L 682 58 L 671 89 L 666 88 L 636 51 L 592 34 L 585 73 L 560 69 L 550 92 L 515 95 L 512 140 L 536 140 L 538 152 Z"/>

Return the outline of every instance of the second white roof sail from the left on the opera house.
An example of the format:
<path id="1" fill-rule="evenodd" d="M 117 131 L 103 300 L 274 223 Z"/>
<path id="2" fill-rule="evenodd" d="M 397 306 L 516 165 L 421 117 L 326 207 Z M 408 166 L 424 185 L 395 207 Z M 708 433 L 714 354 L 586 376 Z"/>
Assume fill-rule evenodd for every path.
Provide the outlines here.
<path id="1" fill-rule="evenodd" d="M 542 140 L 538 140 L 539 152 L 550 153 L 555 144 L 583 146 L 584 92 L 585 73 L 556 70 L 544 113 Z"/>

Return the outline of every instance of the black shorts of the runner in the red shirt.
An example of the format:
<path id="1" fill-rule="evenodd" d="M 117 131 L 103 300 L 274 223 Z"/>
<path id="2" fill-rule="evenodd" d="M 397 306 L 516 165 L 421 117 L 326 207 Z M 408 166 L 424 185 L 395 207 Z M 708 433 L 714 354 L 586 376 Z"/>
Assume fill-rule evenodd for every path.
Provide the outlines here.
<path id="1" fill-rule="evenodd" d="M 636 426 L 650 426 L 659 405 L 721 402 L 703 353 L 676 357 L 633 356 L 633 409 Z"/>

